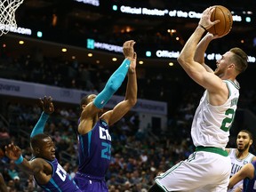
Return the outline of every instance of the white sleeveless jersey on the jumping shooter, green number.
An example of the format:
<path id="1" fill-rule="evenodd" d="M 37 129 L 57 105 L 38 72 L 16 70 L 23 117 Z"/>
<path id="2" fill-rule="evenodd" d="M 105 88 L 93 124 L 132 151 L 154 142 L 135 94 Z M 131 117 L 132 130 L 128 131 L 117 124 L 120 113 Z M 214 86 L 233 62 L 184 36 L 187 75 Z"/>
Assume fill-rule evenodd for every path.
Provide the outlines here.
<path id="1" fill-rule="evenodd" d="M 204 92 L 191 128 L 191 136 L 196 147 L 225 149 L 228 144 L 229 129 L 233 123 L 239 98 L 239 84 L 223 80 L 228 86 L 228 100 L 221 106 L 209 103 L 209 93 Z"/>

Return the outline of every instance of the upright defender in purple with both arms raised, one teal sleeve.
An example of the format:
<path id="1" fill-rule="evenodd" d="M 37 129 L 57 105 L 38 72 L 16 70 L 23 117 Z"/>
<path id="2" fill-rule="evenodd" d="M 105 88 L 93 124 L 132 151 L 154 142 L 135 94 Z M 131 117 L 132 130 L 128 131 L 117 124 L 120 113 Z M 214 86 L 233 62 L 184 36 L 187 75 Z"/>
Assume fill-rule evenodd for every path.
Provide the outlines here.
<path id="1" fill-rule="evenodd" d="M 125 60 L 117 68 L 97 96 L 90 94 L 81 100 L 82 113 L 76 131 L 78 138 L 79 164 L 75 180 L 83 191 L 107 192 L 105 174 L 111 158 L 111 136 L 108 126 L 120 120 L 137 102 L 137 55 L 134 41 L 124 43 Z M 102 108 L 116 92 L 128 73 L 125 98 L 116 107 L 103 113 Z"/>

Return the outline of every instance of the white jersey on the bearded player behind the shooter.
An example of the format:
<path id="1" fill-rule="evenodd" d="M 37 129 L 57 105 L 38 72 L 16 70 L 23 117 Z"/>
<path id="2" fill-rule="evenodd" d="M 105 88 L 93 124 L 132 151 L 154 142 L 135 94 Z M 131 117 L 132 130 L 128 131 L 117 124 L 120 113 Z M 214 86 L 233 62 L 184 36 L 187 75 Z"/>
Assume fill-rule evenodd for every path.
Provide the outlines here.
<path id="1" fill-rule="evenodd" d="M 246 156 L 244 159 L 238 159 L 236 157 L 236 148 L 230 148 L 228 155 L 230 156 L 232 165 L 230 177 L 236 174 L 236 172 L 238 172 L 244 166 L 244 164 L 251 163 L 252 158 L 254 156 L 251 153 L 249 153 L 248 156 Z M 236 185 L 233 188 L 228 189 L 228 192 L 235 191 L 235 189 L 240 185 L 243 185 L 243 180 L 240 180 L 238 183 L 236 183 Z"/>

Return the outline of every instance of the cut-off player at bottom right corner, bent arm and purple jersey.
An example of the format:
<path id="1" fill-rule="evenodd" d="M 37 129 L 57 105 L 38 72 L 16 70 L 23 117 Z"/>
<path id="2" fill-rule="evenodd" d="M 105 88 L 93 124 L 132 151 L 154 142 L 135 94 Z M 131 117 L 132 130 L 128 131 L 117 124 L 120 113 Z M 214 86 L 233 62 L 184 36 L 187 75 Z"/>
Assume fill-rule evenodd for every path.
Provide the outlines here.
<path id="1" fill-rule="evenodd" d="M 235 192 L 256 192 L 256 161 L 245 164 L 241 170 L 230 178 L 228 189 L 233 188 L 236 183 L 243 181 L 243 188 L 236 188 Z"/>

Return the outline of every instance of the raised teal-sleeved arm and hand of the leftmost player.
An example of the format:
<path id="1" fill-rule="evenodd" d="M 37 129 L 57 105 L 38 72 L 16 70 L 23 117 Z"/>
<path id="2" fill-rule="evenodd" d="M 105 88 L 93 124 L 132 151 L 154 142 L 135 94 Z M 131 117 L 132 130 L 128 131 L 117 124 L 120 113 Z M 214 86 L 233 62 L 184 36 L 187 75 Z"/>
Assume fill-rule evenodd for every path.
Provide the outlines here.
<path id="1" fill-rule="evenodd" d="M 35 127 L 33 128 L 32 132 L 30 134 L 30 138 L 34 137 L 36 134 L 44 132 L 45 123 L 47 122 L 49 115 L 51 115 L 54 111 L 54 106 L 52 103 L 51 96 L 49 98 L 44 96 L 44 99 L 40 98 L 39 100 L 40 100 L 40 104 L 44 111 L 42 112 L 39 120 L 37 121 Z"/>

